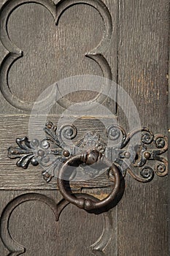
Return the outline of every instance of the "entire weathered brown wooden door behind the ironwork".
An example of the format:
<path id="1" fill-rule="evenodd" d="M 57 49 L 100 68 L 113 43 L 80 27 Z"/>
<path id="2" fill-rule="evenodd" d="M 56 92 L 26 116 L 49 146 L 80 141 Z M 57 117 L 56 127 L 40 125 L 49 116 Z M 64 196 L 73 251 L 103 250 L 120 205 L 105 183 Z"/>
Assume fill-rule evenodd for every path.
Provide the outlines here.
<path id="1" fill-rule="evenodd" d="M 133 100 L 142 127 L 167 136 L 169 1 L 1 0 L 0 7 L 0 255 L 169 255 L 166 176 L 139 182 L 127 173 L 115 207 L 91 214 L 62 200 L 56 178 L 47 182 L 41 166 L 30 163 L 25 170 L 7 157 L 15 139 L 28 136 L 31 102 L 75 75 L 112 79 Z M 126 100 L 116 103 L 121 97 L 116 92 L 100 104 L 128 133 L 123 109 L 129 106 Z M 68 102 L 96 95 L 73 92 L 48 118 L 57 124 Z M 94 130 L 107 140 L 99 119 L 75 118 L 74 140 Z M 148 162 L 154 169 L 155 161 Z M 100 200 L 111 189 L 107 176 L 72 185 L 72 192 Z"/>

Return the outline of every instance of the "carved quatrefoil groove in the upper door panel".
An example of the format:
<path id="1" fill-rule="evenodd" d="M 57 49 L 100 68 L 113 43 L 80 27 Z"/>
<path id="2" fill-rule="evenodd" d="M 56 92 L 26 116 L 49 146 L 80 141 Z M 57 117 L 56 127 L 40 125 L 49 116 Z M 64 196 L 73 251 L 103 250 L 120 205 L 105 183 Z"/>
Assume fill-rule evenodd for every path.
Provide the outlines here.
<path id="1" fill-rule="evenodd" d="M 8 50 L 7 56 L 5 56 L 4 60 L 1 62 L 0 69 L 0 90 L 3 94 L 4 98 L 7 99 L 12 106 L 21 110 L 31 110 L 33 106 L 33 102 L 24 102 L 22 99 L 18 99 L 12 91 L 9 89 L 8 83 L 8 74 L 9 69 L 12 67 L 12 64 L 15 63 L 18 59 L 23 57 L 23 51 L 20 50 L 17 46 L 15 46 L 9 38 L 9 34 L 7 31 L 7 23 L 9 20 L 9 16 L 12 14 L 13 10 L 20 7 L 20 5 L 34 3 L 41 4 L 45 7 L 55 20 L 56 26 L 58 26 L 59 20 L 63 12 L 69 7 L 74 6 L 75 4 L 88 4 L 90 7 L 95 8 L 101 18 L 104 21 L 104 36 L 99 42 L 98 46 L 93 50 L 90 50 L 89 53 L 85 53 L 85 56 L 96 61 L 96 63 L 101 68 L 104 78 L 108 78 L 108 80 L 112 79 L 112 72 L 107 62 L 107 59 L 104 58 L 102 53 L 109 47 L 109 42 L 112 37 L 112 18 L 107 9 L 107 6 L 101 0 L 63 0 L 59 1 L 58 4 L 54 4 L 51 0 L 9 0 L 0 10 L 0 39 L 4 47 Z M 108 82 L 108 87 L 111 84 Z M 102 92 L 102 89 L 101 89 Z M 104 102 L 106 96 L 104 94 L 99 93 L 97 97 L 93 100 L 96 102 Z M 45 100 L 46 101 L 46 100 Z M 59 99 L 58 103 L 63 106 L 63 108 L 68 108 L 69 105 L 72 105 L 68 99 Z"/>

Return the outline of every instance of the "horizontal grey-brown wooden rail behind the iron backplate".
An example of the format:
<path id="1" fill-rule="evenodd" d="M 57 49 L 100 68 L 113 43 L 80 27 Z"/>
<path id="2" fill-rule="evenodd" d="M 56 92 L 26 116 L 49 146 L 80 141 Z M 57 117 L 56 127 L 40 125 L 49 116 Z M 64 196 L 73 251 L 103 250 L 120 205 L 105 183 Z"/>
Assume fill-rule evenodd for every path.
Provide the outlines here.
<path id="1" fill-rule="evenodd" d="M 48 116 L 47 120 L 53 121 L 54 124 L 58 123 L 60 116 Z M 106 124 L 112 124 L 112 118 L 101 117 Z M 16 166 L 16 159 L 9 159 L 7 157 L 7 148 L 9 146 L 16 146 L 16 138 L 23 138 L 28 136 L 28 123 L 29 118 L 27 116 L 1 116 L 0 117 L 0 141 L 1 141 L 1 153 L 0 153 L 0 189 L 56 189 L 56 179 L 47 183 L 42 177 L 42 167 L 29 165 L 28 169 L 23 170 Z M 74 143 L 80 140 L 86 132 L 95 130 L 101 138 L 107 142 L 107 136 L 105 132 L 104 124 L 101 123 L 98 118 L 75 118 L 74 125 L 77 127 L 77 137 L 74 139 Z M 36 122 L 34 127 L 33 136 L 31 139 L 37 138 L 37 135 L 42 132 L 44 124 Z M 86 128 L 85 128 L 86 127 Z M 35 137 L 34 137 L 35 135 Z M 44 137 L 42 137 L 44 138 Z M 80 189 L 80 187 L 110 187 L 112 181 L 109 181 L 107 173 L 102 176 L 98 176 L 96 179 L 91 179 L 85 182 L 76 182 L 72 184 L 74 189 Z"/>

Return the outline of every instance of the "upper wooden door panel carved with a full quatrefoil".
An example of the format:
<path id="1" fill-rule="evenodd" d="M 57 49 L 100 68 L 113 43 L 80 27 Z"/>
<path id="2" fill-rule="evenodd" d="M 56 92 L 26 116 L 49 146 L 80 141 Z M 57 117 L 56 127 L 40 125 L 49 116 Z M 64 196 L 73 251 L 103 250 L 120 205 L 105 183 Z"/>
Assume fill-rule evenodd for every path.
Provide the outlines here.
<path id="1" fill-rule="evenodd" d="M 1 17 L 4 22 L 6 20 L 7 26 L 1 22 L 1 87 L 6 90 L 9 86 L 10 91 L 7 96 L 2 91 L 1 113 L 14 113 L 4 97 L 10 104 L 18 107 L 18 99 L 34 102 L 48 86 L 63 78 L 74 75 L 103 75 L 104 67 L 100 61 L 85 56 L 90 52 L 97 51 L 99 56 L 104 49 L 109 48 L 109 51 L 105 50 L 104 58 L 112 70 L 112 77 L 116 78 L 117 1 L 104 2 L 109 7 L 108 14 L 101 7 L 101 3 L 84 1 L 77 4 L 77 1 L 73 1 L 68 4 L 66 2 L 65 7 L 59 1 L 55 5 L 51 0 L 18 0 L 7 1 L 3 5 Z M 108 17 L 109 12 L 112 12 L 112 20 Z M 112 23 L 112 41 L 107 42 L 108 35 L 104 31 L 107 26 L 112 28 Z M 104 49 L 99 50 L 101 41 L 106 41 L 106 44 L 104 42 Z M 10 54 L 7 55 L 7 52 Z M 67 98 L 74 102 L 77 97 L 79 101 L 83 101 L 95 96 L 95 92 L 85 91 L 73 93 Z M 18 98 L 16 102 L 13 97 Z M 24 103 L 20 108 L 26 111 L 31 109 Z M 57 111 L 61 113 L 60 108 Z M 15 113 L 22 111 L 16 109 Z"/>

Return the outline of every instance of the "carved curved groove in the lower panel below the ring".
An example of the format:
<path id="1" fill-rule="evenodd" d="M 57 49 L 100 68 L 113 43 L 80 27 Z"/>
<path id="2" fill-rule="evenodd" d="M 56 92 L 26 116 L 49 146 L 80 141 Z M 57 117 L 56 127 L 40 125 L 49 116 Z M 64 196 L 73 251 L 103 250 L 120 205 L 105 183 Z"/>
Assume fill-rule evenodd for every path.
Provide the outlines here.
<path id="1" fill-rule="evenodd" d="M 89 195 L 85 195 L 88 197 Z M 81 197 L 80 194 L 77 194 L 77 197 Z M 89 196 L 90 197 L 90 196 Z M 12 238 L 9 231 L 9 219 L 12 215 L 12 211 L 15 210 L 21 203 L 25 203 L 31 200 L 38 200 L 42 203 L 47 204 L 49 208 L 53 211 L 55 216 L 55 220 L 58 222 L 59 217 L 63 209 L 69 205 L 69 202 L 66 200 L 61 200 L 58 204 L 55 203 L 53 199 L 47 197 L 46 195 L 38 194 L 38 193 L 28 193 L 23 194 L 18 197 L 15 197 L 12 201 L 10 201 L 7 206 L 4 208 L 4 211 L 1 214 L 1 222 L 0 222 L 0 235 L 1 241 L 4 243 L 4 246 L 9 250 L 10 256 L 19 256 L 23 255 L 26 252 L 26 248 L 22 245 L 18 244 L 14 238 Z M 104 229 L 102 234 L 98 240 L 90 246 L 90 249 L 94 253 L 94 255 L 105 255 L 104 249 L 109 244 L 109 241 L 112 238 L 112 217 L 110 212 L 104 213 Z"/>

